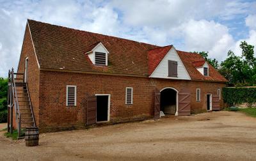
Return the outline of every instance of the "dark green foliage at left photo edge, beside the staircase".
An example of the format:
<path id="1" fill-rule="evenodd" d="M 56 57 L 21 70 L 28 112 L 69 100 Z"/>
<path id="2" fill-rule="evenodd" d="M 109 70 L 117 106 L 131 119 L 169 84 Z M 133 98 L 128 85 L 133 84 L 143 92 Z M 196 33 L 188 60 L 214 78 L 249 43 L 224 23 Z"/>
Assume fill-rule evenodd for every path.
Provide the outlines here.
<path id="1" fill-rule="evenodd" d="M 8 80 L 0 77 L 0 123 L 7 121 Z"/>

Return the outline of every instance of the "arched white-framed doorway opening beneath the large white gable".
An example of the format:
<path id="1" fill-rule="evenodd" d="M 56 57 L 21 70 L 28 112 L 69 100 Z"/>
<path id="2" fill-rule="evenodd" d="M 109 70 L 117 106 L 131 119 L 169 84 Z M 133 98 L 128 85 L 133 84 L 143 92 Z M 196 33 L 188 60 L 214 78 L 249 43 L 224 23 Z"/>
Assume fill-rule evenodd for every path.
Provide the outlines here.
<path id="1" fill-rule="evenodd" d="M 175 88 L 164 88 L 161 91 L 160 111 L 164 114 L 178 115 L 178 94 L 179 91 Z"/>

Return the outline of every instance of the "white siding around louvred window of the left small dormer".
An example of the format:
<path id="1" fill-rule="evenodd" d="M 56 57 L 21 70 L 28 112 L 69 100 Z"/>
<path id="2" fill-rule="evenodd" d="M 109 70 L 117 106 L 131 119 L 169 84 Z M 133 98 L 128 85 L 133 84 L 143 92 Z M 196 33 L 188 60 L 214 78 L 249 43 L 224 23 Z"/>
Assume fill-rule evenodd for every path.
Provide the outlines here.
<path id="1" fill-rule="evenodd" d="M 92 61 L 93 65 L 96 65 L 95 63 L 95 52 L 100 52 L 100 53 L 105 53 L 106 54 L 106 66 L 108 66 L 108 50 L 106 49 L 106 47 L 104 47 L 104 45 L 99 42 L 92 50 L 90 50 L 89 52 L 86 52 L 86 54 L 88 55 L 88 57 L 90 58 L 90 60 Z"/>

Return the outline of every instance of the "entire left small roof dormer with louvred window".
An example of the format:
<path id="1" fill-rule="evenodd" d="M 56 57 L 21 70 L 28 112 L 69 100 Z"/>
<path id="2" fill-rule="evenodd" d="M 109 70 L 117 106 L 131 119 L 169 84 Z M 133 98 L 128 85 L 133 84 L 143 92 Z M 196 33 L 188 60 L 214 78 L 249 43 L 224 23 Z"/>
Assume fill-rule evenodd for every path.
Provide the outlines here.
<path id="1" fill-rule="evenodd" d="M 109 51 L 101 42 L 93 43 L 88 47 L 85 54 L 88 55 L 93 65 L 108 66 Z"/>

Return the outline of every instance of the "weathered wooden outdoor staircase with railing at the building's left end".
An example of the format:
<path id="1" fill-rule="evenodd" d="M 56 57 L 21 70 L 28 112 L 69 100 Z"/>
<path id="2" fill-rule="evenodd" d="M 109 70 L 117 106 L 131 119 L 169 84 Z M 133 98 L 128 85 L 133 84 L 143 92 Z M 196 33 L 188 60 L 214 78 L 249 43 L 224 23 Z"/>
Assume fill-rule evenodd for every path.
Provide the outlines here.
<path id="1" fill-rule="evenodd" d="M 28 83 L 24 82 L 23 73 L 13 73 L 12 69 L 8 77 L 8 132 L 10 133 L 13 131 L 13 108 L 15 108 L 15 121 L 20 139 L 21 131 L 24 128 L 36 127 L 36 123 Z"/>

